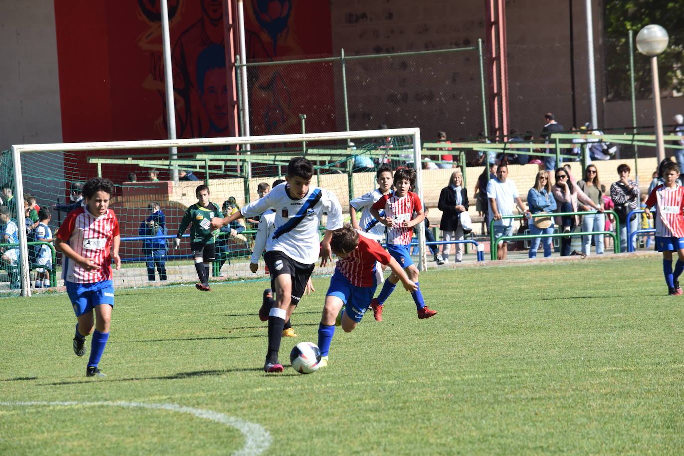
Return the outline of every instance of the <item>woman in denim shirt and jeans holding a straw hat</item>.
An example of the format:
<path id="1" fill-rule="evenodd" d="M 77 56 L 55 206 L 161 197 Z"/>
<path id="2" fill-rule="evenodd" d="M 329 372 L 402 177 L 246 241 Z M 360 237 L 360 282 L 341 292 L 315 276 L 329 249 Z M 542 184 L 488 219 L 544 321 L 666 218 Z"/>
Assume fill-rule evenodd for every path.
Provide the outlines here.
<path id="1" fill-rule="evenodd" d="M 549 173 L 540 171 L 534 179 L 534 187 L 527 192 L 527 206 L 533 214 L 553 213 L 556 208 L 555 198 L 551 195 L 551 183 L 549 183 Z M 529 234 L 553 234 L 553 218 L 532 217 L 529 223 Z M 539 241 L 544 245 L 544 258 L 551 256 L 551 238 L 536 237 L 529 243 L 529 258 L 537 257 Z"/>

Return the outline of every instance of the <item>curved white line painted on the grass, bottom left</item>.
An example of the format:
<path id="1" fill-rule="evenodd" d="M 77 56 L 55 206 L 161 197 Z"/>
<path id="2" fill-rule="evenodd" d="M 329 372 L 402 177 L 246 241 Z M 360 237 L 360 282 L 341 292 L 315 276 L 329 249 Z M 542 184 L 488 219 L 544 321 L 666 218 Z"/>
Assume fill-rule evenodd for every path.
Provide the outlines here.
<path id="1" fill-rule="evenodd" d="M 176 404 L 150 404 L 143 402 L 77 402 L 77 401 L 65 401 L 65 402 L 42 402 L 42 401 L 31 401 L 31 402 L 0 402 L 0 405 L 111 405 L 114 407 L 142 407 L 147 409 L 161 409 L 161 410 L 172 410 L 173 412 L 184 412 L 194 415 L 198 418 L 204 418 L 206 420 L 216 421 L 226 426 L 235 427 L 245 436 L 245 446 L 235 451 L 233 455 L 247 456 L 247 455 L 259 455 L 263 453 L 269 446 L 271 446 L 272 437 L 271 434 L 264 429 L 261 425 L 255 423 L 250 423 L 249 421 L 241 420 L 240 418 L 234 418 L 233 416 L 228 416 L 219 412 L 213 412 L 212 410 L 202 410 L 193 407 L 184 407 L 183 405 Z"/>

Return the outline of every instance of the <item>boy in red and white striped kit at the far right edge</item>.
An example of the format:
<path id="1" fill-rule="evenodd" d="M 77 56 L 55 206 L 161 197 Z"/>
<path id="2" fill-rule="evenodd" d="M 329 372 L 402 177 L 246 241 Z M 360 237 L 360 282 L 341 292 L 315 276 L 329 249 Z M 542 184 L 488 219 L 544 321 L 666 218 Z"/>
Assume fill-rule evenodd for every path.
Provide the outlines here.
<path id="1" fill-rule="evenodd" d="M 650 207 L 655 206 L 655 245 L 663 252 L 663 276 L 668 285 L 668 295 L 682 294 L 679 276 L 684 271 L 684 187 L 677 185 L 679 166 L 674 162 L 661 167 L 663 184 L 650 192 L 646 200 L 647 218 L 652 218 Z M 672 271 L 672 252 L 677 252 Z"/>

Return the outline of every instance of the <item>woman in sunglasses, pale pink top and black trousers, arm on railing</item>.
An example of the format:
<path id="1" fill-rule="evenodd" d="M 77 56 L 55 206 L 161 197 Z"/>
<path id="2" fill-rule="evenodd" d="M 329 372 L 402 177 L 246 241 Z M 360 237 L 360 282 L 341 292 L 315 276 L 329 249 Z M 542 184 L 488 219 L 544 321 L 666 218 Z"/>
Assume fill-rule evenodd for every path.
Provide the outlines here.
<path id="1" fill-rule="evenodd" d="M 586 196 L 577 185 L 568 178 L 568 172 L 560 167 L 555 170 L 555 184 L 551 187 L 551 193 L 556 200 L 556 212 L 577 212 L 578 202 L 601 211 L 601 206 Z M 556 217 L 556 223 L 563 226 L 563 232 L 572 232 L 579 224 L 577 215 L 563 215 Z M 572 238 L 562 237 L 560 239 L 560 256 L 569 256 L 572 249 Z"/>

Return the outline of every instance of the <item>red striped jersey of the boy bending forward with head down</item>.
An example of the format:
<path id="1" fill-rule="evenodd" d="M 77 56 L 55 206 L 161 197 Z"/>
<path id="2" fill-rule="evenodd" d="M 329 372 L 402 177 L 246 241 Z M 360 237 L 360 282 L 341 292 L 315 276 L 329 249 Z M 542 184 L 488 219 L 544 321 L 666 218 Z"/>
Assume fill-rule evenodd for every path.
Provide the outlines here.
<path id="1" fill-rule="evenodd" d="M 382 273 L 378 277 L 378 261 L 389 265 L 391 256 L 384 250 L 372 235 L 358 232 L 358 247 L 347 256 L 337 260 L 335 269 L 343 274 L 354 286 L 375 286 L 382 282 Z"/>

